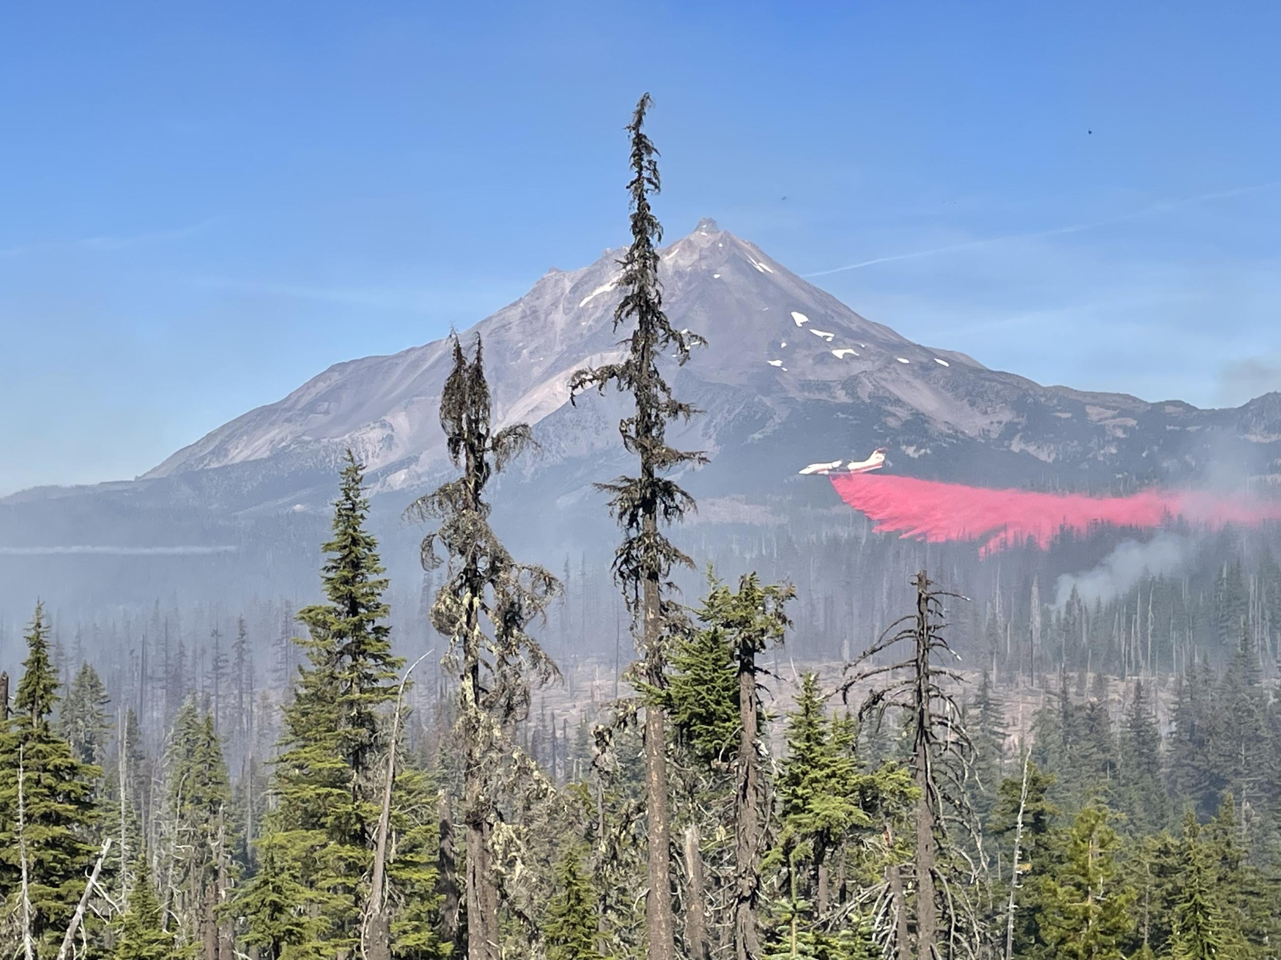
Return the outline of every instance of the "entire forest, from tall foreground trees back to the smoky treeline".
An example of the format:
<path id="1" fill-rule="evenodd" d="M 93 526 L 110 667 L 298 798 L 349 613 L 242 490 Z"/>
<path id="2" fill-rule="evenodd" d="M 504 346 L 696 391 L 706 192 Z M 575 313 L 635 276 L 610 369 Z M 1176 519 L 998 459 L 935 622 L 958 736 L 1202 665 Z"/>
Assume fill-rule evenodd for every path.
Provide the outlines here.
<path id="1" fill-rule="evenodd" d="M 389 582 L 350 456 L 324 599 L 291 613 L 302 630 L 282 631 L 277 691 L 260 686 L 247 630 L 210 635 L 202 655 L 165 648 L 160 686 L 141 664 L 111 685 L 87 663 L 60 676 L 36 608 L 12 696 L 0 681 L 10 955 L 1277 954 L 1281 705 L 1266 681 L 1262 572 L 1228 564 L 1208 599 L 1148 579 L 1113 607 L 1077 596 L 1059 608 L 1032 571 L 967 604 L 939 586 L 958 579 L 945 557 L 908 579 L 888 571 L 916 548 L 886 547 L 902 552 L 886 570 L 834 567 L 848 590 L 822 617 L 840 622 L 856 591 L 875 596 L 875 614 L 835 635 L 838 675 L 796 677 L 783 716 L 775 664 L 799 604 L 766 550 L 760 573 L 708 571 L 702 599 L 679 602 L 675 581 L 697 571 L 667 536 L 694 506 L 675 477 L 702 454 L 666 440 L 697 411 L 664 371 L 701 339 L 662 311 L 648 105 L 628 127 L 624 349 L 570 384 L 575 402 L 594 389 L 632 404 L 620 434 L 635 474 L 602 484 L 623 531 L 611 573 L 637 654 L 619 699 L 573 731 L 539 709 L 538 691 L 562 680 L 538 634 L 565 616 L 565 585 L 507 550 L 487 499 L 532 435 L 491 422 L 482 344 L 455 338 L 441 424 L 457 476 L 407 509 L 429 526 L 430 588 L 415 614 L 436 634 L 412 659 L 393 648 Z M 1163 733 L 1148 678 L 1161 673 L 1167 613 L 1179 686 Z M 977 685 L 958 669 L 962 645 L 981 653 Z M 1120 716 L 1108 673 L 1129 691 Z M 998 677 L 1040 689 L 1031 737 L 1012 736 Z M 163 744 L 143 735 L 143 714 Z"/>

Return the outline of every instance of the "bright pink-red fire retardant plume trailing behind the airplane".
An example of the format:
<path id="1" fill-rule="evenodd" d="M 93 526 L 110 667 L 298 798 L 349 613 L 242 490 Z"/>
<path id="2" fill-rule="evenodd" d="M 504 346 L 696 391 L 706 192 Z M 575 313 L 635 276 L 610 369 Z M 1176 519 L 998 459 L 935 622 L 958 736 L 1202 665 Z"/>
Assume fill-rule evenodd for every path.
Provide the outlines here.
<path id="1" fill-rule="evenodd" d="M 1157 527 L 1173 517 L 1211 529 L 1226 524 L 1257 526 L 1281 520 L 1281 500 L 1213 493 L 1144 490 L 1131 497 L 993 490 L 984 486 L 916 480 L 893 474 L 831 477 L 840 499 L 876 522 L 876 532 L 899 532 L 930 543 L 977 540 L 986 556 L 1032 540 L 1045 549 L 1067 527 Z"/>

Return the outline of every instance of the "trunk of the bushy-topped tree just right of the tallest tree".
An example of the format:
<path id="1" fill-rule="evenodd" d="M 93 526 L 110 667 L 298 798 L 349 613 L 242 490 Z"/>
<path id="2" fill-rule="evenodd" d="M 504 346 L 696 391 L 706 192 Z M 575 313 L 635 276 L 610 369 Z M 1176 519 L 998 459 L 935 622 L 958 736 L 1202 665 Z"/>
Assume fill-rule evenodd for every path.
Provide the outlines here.
<path id="1" fill-rule="evenodd" d="M 734 794 L 734 956 L 757 960 L 761 934 L 757 901 L 761 892 L 760 771 L 757 769 L 756 654 L 738 652 L 738 785 Z"/>

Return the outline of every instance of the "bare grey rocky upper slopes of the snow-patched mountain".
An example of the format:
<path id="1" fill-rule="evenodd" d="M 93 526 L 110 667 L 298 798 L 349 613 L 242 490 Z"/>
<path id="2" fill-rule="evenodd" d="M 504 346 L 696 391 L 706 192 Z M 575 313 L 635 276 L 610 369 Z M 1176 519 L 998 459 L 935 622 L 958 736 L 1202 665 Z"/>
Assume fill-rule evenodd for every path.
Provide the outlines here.
<path id="1" fill-rule="evenodd" d="M 542 468 L 617 447 L 616 435 L 600 429 L 598 401 L 567 406 L 567 381 L 574 370 L 619 356 L 619 255 L 550 270 L 474 328 L 498 419 L 543 426 Z M 813 460 L 862 457 L 877 445 L 890 447 L 890 468 L 899 472 L 976 483 L 1185 476 L 1216 453 L 1254 454 L 1250 468 L 1262 470 L 1278 452 L 1276 397 L 1237 411 L 1199 411 L 1040 387 L 866 320 L 714 220 L 664 251 L 662 280 L 674 324 L 708 340 L 679 376 L 706 411 L 689 439 L 714 454 L 746 443 L 749 451 L 734 460 L 778 484 Z M 237 467 L 250 488 L 270 489 L 236 504 L 246 508 L 278 500 L 281 477 L 310 475 L 351 447 L 379 492 L 415 488 L 442 465 L 437 406 L 448 362 L 447 343 L 437 340 L 338 364 L 142 479 Z M 753 429 L 744 433 L 748 421 Z M 784 449 L 787 460 L 778 456 Z"/>

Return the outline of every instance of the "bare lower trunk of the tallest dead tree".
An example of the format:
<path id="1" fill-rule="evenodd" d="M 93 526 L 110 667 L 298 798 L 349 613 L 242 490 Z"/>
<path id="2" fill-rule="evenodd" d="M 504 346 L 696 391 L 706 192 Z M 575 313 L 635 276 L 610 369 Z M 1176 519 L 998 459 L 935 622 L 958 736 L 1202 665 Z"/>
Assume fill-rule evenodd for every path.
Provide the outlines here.
<path id="1" fill-rule="evenodd" d="M 657 521 L 644 518 L 644 535 L 657 536 Z M 662 682 L 658 579 L 644 581 L 642 617 L 647 680 Z M 646 819 L 648 823 L 648 893 L 644 904 L 649 960 L 675 960 L 671 922 L 671 820 L 667 813 L 667 756 L 664 716 L 657 707 L 646 708 L 644 717 Z"/>

